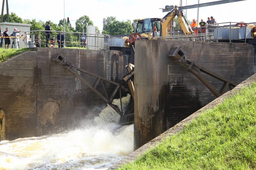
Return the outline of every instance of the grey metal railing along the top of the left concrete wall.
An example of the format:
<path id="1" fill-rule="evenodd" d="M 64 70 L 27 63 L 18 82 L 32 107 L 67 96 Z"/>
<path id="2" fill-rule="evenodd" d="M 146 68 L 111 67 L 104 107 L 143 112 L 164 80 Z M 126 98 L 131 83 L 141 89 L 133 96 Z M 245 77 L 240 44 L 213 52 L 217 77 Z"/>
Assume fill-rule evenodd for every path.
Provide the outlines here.
<path id="1" fill-rule="evenodd" d="M 50 46 L 50 40 L 55 36 L 56 46 L 62 47 L 61 43 L 58 43 L 57 37 L 61 39 L 61 36 L 65 36 L 63 47 L 66 48 L 85 48 L 85 49 L 108 49 L 109 50 L 109 37 L 110 35 L 106 34 L 91 34 L 91 33 L 75 33 L 75 32 L 64 32 L 64 31 L 50 31 L 51 34 L 49 41 L 47 43 L 46 33 L 49 31 L 45 30 L 35 30 L 35 31 L 26 31 L 26 41 L 27 47 L 36 47 L 35 39 L 40 35 L 41 41 L 37 44 L 39 47 Z M 84 36 L 83 36 L 84 35 Z M 82 40 L 82 36 L 85 39 Z"/>

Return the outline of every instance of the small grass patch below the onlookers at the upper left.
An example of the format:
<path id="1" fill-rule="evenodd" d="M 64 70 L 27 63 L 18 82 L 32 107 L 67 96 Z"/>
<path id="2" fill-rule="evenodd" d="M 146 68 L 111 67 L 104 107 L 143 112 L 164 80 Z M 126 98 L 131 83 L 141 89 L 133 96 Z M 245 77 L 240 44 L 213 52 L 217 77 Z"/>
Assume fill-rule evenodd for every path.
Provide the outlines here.
<path id="1" fill-rule="evenodd" d="M 3 49 L 0 48 L 0 63 L 10 59 L 12 56 L 15 56 L 24 51 L 33 51 L 33 48 L 21 48 L 21 49 Z"/>

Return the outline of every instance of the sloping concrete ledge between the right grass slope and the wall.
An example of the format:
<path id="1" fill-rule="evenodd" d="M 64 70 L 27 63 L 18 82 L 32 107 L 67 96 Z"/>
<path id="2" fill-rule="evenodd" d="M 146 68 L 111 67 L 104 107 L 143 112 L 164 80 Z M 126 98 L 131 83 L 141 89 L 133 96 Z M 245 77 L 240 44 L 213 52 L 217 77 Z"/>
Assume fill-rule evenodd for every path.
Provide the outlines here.
<path id="1" fill-rule="evenodd" d="M 137 149 L 134 152 L 130 153 L 129 155 L 125 156 L 121 161 L 119 161 L 115 165 L 111 166 L 109 169 L 110 170 L 111 169 L 118 169 L 118 168 L 120 168 L 120 166 L 122 166 L 125 163 L 135 161 L 136 158 L 138 158 L 140 155 L 144 155 L 147 150 L 151 149 L 151 147 L 156 146 L 157 144 L 159 144 L 159 142 L 165 140 L 168 136 L 172 136 L 172 135 L 175 135 L 175 134 L 179 133 L 182 129 L 184 129 L 185 124 L 188 124 L 194 118 L 197 118 L 202 113 L 202 111 L 207 110 L 207 109 L 212 109 L 212 108 L 216 107 L 218 104 L 223 102 L 225 98 L 230 97 L 231 95 L 237 94 L 237 92 L 239 92 L 242 87 L 249 86 L 250 84 L 252 84 L 254 82 L 256 82 L 256 74 L 252 75 L 251 77 L 249 77 L 248 79 L 246 79 L 245 81 L 243 81 L 242 83 L 237 85 L 231 91 L 226 92 L 225 94 L 221 95 L 220 97 L 218 97 L 214 101 L 210 102 L 209 104 L 207 104 L 206 106 L 204 106 L 200 110 L 191 114 L 189 117 L 185 118 L 184 120 L 182 120 L 181 122 L 179 122 L 178 124 L 176 124 L 172 128 L 168 129 L 167 131 L 165 131 L 161 135 L 159 135 L 159 136 L 155 137 L 154 139 L 150 140 L 148 143 L 141 146 L 139 149 Z"/>

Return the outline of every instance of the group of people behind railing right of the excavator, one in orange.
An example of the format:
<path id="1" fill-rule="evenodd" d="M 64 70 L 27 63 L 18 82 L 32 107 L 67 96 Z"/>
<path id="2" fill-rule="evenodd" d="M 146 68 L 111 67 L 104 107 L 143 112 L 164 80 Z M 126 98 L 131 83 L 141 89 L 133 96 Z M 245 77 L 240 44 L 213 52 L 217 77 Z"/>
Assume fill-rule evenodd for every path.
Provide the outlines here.
<path id="1" fill-rule="evenodd" d="M 208 17 L 206 22 L 203 21 L 203 19 L 201 19 L 201 22 L 199 23 L 200 28 L 201 28 L 200 33 L 205 33 L 206 24 L 216 24 L 216 20 L 213 17 L 211 17 L 211 18 Z M 190 26 L 191 26 L 192 30 L 195 32 L 195 34 L 198 34 L 199 29 L 196 29 L 196 28 L 198 28 L 198 25 L 197 25 L 197 22 L 195 19 L 193 19 Z M 214 26 L 214 25 L 209 25 L 208 27 L 211 27 L 211 26 Z M 212 31 L 209 30 L 209 32 L 212 32 Z"/>

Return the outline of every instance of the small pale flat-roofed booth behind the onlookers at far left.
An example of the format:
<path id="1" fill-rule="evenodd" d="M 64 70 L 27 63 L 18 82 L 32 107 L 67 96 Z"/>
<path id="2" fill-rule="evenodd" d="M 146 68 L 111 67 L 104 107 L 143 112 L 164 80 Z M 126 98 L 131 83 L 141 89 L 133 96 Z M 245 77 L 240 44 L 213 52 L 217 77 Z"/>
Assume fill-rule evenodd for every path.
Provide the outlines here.
<path id="1" fill-rule="evenodd" d="M 5 28 L 8 28 L 8 32 L 10 35 L 13 33 L 14 28 L 17 28 L 19 31 L 22 30 L 23 32 L 20 32 L 20 36 L 23 34 L 23 36 L 20 38 L 19 41 L 19 47 L 26 47 L 26 42 L 23 42 L 23 39 L 25 38 L 26 31 L 30 31 L 31 24 L 23 24 L 23 23 L 0 23 L 0 27 L 2 27 L 2 32 L 5 31 Z M 11 44 L 9 45 L 9 48 L 11 48 L 11 45 L 13 43 L 13 40 L 11 40 Z M 4 47 L 4 40 L 3 40 L 3 47 Z"/>

